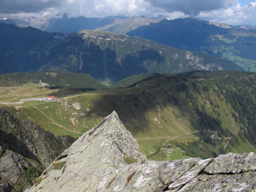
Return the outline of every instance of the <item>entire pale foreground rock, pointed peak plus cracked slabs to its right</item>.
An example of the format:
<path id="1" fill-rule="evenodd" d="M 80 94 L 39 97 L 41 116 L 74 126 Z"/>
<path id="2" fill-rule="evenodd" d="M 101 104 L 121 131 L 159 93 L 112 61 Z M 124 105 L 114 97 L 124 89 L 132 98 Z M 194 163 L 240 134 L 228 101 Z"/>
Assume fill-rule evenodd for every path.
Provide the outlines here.
<path id="1" fill-rule="evenodd" d="M 254 153 L 146 161 L 136 140 L 112 112 L 56 158 L 29 191 L 214 192 L 254 191 L 255 186 Z"/>

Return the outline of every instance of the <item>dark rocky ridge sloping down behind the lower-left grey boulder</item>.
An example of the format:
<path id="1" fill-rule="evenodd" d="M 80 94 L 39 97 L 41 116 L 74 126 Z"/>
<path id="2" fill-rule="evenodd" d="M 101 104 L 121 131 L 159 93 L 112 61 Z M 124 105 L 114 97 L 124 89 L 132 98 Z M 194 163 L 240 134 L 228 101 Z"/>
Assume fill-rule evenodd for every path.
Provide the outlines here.
<path id="1" fill-rule="evenodd" d="M 48 166 L 76 139 L 72 136 L 54 136 L 31 121 L 16 119 L 0 109 L 0 146 Z"/>

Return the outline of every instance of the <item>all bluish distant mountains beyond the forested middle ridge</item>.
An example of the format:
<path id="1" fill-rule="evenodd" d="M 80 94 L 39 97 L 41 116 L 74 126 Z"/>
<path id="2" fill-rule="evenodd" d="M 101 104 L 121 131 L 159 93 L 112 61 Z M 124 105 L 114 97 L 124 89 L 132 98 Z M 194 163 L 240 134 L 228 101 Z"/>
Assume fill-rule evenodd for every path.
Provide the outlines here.
<path id="1" fill-rule="evenodd" d="M 9 18 L 1 20 L 17 26 L 33 26 L 47 32 L 98 30 L 140 36 L 156 42 L 199 51 L 225 58 L 247 71 L 256 71 L 256 28 L 250 25 L 230 26 L 199 18 L 167 20 L 163 16 L 115 16 L 105 18 Z"/>

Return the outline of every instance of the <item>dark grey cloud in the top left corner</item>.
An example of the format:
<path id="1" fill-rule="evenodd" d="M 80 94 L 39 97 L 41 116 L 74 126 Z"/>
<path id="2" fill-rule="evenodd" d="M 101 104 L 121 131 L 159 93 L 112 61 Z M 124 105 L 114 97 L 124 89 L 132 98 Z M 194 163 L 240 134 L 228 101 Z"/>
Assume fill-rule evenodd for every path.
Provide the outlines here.
<path id="1" fill-rule="evenodd" d="M 36 13 L 57 7 L 65 0 L 0 0 L 0 13 Z"/>

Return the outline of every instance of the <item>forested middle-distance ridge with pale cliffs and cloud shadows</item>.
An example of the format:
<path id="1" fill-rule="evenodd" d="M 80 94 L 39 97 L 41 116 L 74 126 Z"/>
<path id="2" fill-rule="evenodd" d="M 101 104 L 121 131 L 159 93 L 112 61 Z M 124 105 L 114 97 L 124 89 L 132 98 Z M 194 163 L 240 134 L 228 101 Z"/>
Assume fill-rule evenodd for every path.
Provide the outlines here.
<path id="1" fill-rule="evenodd" d="M 243 69 L 234 62 L 125 34 L 48 33 L 0 23 L 0 72 L 68 70 L 117 82 L 134 74 Z"/>

